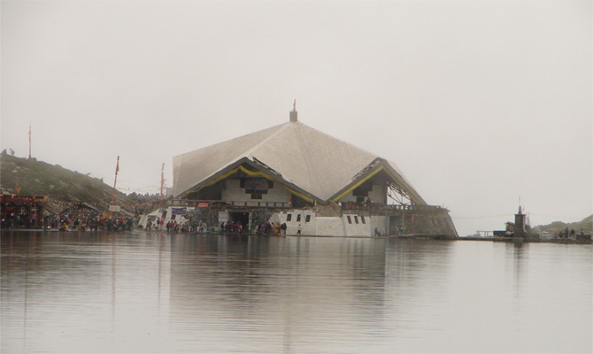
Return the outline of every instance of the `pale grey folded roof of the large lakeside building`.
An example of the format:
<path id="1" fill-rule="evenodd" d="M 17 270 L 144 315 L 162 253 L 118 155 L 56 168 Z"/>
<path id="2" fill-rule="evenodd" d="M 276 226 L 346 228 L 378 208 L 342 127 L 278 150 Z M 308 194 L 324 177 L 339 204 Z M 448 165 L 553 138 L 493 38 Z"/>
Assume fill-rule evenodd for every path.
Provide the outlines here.
<path id="1" fill-rule="evenodd" d="M 376 165 L 378 157 L 299 121 L 289 121 L 174 157 L 174 196 L 211 180 L 217 173 L 244 158 L 265 164 L 281 174 L 282 180 L 320 201 L 328 201 L 364 177 L 365 173 L 361 172 L 371 164 Z M 395 172 L 393 174 L 400 186 L 424 203 L 397 165 L 381 161 Z"/>

